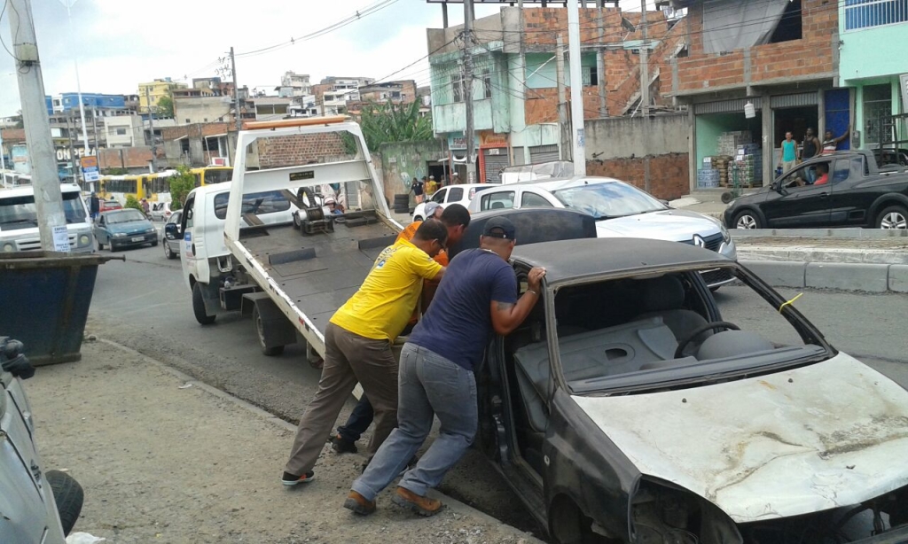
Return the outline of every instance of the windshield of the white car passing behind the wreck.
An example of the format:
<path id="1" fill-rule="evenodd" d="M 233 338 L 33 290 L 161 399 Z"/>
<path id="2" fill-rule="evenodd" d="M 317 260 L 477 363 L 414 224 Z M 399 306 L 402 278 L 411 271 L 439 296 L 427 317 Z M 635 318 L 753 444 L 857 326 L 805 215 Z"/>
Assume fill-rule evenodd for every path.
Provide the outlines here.
<path id="1" fill-rule="evenodd" d="M 558 189 L 553 194 L 566 207 L 577 209 L 596 219 L 613 219 L 667 209 L 662 202 L 622 181 L 592 182 Z"/>

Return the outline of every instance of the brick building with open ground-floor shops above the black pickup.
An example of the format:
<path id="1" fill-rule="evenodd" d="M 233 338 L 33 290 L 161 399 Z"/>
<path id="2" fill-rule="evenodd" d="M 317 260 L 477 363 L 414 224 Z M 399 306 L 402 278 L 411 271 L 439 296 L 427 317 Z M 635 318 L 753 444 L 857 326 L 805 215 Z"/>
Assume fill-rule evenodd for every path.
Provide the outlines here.
<path id="1" fill-rule="evenodd" d="M 688 106 L 696 187 L 704 160 L 727 154 L 723 141 L 755 151 L 755 184 L 773 180 L 785 131 L 843 133 L 853 117 L 849 89 L 835 88 L 839 63 L 838 6 L 827 0 L 675 0 L 686 7 L 686 53 L 663 66 L 663 92 Z M 747 104 L 750 104 L 748 106 Z M 751 108 L 751 106 L 753 108 Z M 753 112 L 748 117 L 745 111 Z M 735 135 L 736 134 L 736 135 Z M 725 140 L 723 140 L 725 139 Z M 847 149 L 845 141 L 840 149 Z M 708 168 L 708 167 L 707 167 Z M 759 172 L 762 170 L 762 175 Z"/>

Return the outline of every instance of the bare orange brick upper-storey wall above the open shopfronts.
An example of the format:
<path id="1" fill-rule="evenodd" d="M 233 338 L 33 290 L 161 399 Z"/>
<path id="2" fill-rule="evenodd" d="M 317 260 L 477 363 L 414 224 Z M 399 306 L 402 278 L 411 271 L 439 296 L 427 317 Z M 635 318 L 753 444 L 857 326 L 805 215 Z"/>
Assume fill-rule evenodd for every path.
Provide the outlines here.
<path id="1" fill-rule="evenodd" d="M 756 45 L 750 49 L 750 84 L 788 79 L 796 83 L 804 76 L 832 73 L 833 35 L 838 33 L 838 10 L 828 0 L 802 0 L 802 38 L 779 44 Z M 678 91 L 735 87 L 745 80 L 743 50 L 704 53 L 703 9 L 688 10 L 690 51 L 678 59 Z M 663 71 L 670 81 L 671 73 Z M 670 89 L 670 85 L 664 89 Z"/>

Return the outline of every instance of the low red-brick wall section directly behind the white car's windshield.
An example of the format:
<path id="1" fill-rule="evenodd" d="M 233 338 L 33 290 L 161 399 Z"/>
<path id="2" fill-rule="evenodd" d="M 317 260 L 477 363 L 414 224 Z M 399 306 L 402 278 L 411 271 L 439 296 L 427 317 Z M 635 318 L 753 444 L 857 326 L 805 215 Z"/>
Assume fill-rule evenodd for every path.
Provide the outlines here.
<path id="1" fill-rule="evenodd" d="M 649 188 L 646 189 L 646 160 Z M 606 176 L 646 189 L 656 199 L 678 199 L 689 192 L 687 153 L 668 153 L 634 159 L 587 160 L 587 175 Z"/>

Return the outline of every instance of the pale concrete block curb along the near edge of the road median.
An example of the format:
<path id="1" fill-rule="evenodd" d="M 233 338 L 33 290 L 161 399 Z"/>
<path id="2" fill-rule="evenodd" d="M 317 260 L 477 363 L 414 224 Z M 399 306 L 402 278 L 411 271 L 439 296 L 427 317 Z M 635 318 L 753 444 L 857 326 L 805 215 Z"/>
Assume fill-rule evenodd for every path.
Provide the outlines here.
<path id="1" fill-rule="evenodd" d="M 908 265 L 741 260 L 773 287 L 908 293 Z"/>

